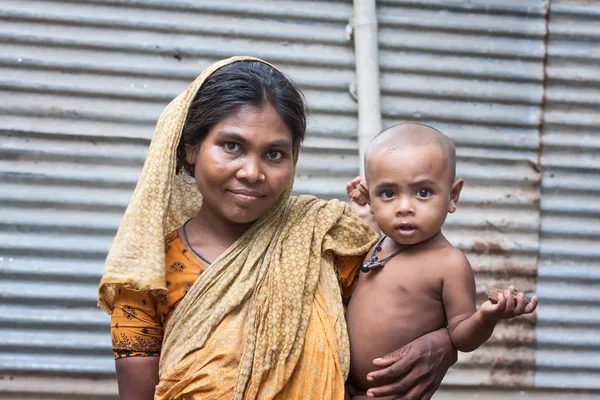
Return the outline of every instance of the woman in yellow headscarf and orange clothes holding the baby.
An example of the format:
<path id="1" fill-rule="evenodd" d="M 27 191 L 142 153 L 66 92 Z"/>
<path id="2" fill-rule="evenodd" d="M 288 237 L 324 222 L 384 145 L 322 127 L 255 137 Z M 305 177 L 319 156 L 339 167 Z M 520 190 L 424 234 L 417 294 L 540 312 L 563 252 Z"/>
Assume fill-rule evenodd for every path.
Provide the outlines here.
<path id="1" fill-rule="evenodd" d="M 291 196 L 305 129 L 299 90 L 249 57 L 167 106 L 99 288 L 122 399 L 344 397 L 340 294 L 376 235 Z M 444 331 L 411 346 L 375 362 L 374 395 L 427 398 L 455 361 Z"/>

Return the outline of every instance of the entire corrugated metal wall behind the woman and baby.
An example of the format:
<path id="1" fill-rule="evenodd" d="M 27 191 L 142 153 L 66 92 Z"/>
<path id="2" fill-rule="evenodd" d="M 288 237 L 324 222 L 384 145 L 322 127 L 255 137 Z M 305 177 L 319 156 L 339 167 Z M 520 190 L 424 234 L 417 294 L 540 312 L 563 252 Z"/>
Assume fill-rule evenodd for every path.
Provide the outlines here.
<path id="1" fill-rule="evenodd" d="M 508 282 L 543 298 L 537 351 L 534 318 L 504 324 L 461 355 L 440 399 L 600 389 L 600 10 L 578 3 L 552 0 L 543 104 L 543 0 L 378 0 L 385 125 L 426 121 L 456 141 L 466 188 L 448 234 L 480 300 Z M 103 259 L 162 108 L 211 62 L 250 54 L 294 77 L 312 112 L 296 189 L 345 196 L 359 162 L 351 12 L 350 1 L 0 2 L 0 398 L 115 397 L 95 308 Z"/>

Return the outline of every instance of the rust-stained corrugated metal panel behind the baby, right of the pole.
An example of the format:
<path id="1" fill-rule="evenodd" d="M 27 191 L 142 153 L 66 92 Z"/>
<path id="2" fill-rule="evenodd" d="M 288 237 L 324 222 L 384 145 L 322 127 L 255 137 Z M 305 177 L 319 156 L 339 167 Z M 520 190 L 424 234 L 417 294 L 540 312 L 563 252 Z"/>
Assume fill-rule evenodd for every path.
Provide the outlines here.
<path id="1" fill-rule="evenodd" d="M 535 292 L 544 1 L 378 1 L 386 126 L 423 121 L 457 146 L 465 189 L 446 233 L 465 251 L 478 304 L 489 286 Z M 448 373 L 440 398 L 531 387 L 535 319 L 498 326 Z"/>

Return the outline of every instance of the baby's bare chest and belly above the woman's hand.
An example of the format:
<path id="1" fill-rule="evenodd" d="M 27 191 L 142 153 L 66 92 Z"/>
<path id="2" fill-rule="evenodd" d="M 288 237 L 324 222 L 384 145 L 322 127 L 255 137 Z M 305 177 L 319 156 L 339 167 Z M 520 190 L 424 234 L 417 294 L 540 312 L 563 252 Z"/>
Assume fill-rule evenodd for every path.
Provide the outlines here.
<path id="1" fill-rule="evenodd" d="M 443 265 L 417 257 L 393 261 L 380 270 L 361 272 L 348 305 L 353 379 L 366 376 L 374 358 L 446 324 Z"/>

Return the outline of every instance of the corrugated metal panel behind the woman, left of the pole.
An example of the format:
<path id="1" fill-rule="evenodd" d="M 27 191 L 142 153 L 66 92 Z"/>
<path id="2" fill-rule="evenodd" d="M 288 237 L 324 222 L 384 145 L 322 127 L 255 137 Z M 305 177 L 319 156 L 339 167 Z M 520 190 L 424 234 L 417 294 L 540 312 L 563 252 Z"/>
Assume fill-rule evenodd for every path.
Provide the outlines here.
<path id="1" fill-rule="evenodd" d="M 358 173 L 351 4 L 0 2 L 0 398 L 115 398 L 106 252 L 163 107 L 213 61 L 249 54 L 304 90 L 296 190 Z M 324 157 L 324 155 L 327 155 Z"/>

